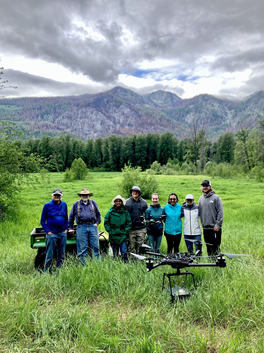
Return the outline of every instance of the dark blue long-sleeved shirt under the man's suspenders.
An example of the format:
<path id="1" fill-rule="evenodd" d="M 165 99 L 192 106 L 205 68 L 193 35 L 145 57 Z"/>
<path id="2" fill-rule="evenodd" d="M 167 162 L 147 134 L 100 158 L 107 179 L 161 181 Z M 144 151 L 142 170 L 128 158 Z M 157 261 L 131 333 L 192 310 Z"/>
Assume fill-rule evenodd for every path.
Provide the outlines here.
<path id="1" fill-rule="evenodd" d="M 84 204 L 82 201 L 80 202 L 80 217 L 78 217 L 78 201 L 73 204 L 69 215 L 69 229 L 73 229 L 74 219 L 77 224 L 92 222 L 99 225 L 101 223 L 101 214 L 98 208 L 97 203 L 93 201 L 94 205 L 94 217 L 93 220 L 93 209 L 91 205 L 91 201 L 88 200 L 87 204 Z"/>

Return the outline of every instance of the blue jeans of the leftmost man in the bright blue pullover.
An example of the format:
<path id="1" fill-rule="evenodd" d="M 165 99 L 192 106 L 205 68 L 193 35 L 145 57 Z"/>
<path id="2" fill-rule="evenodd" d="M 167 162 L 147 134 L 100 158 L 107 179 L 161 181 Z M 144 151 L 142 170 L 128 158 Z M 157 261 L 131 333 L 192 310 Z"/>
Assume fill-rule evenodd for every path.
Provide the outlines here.
<path id="1" fill-rule="evenodd" d="M 57 234 L 46 235 L 46 260 L 44 266 L 44 272 L 51 271 L 52 259 L 54 250 L 57 244 L 57 268 L 61 267 L 62 260 L 65 256 L 65 246 L 66 246 L 67 234 L 64 232 Z"/>

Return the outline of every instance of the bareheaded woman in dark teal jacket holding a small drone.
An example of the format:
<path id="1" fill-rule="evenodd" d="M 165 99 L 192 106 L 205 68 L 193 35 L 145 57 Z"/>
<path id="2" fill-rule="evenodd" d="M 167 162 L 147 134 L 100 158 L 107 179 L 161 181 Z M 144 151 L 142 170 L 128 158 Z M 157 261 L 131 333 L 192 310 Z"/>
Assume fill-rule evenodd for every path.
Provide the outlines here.
<path id="1" fill-rule="evenodd" d="M 151 195 L 152 204 L 145 211 L 146 221 L 154 220 L 160 221 L 159 217 L 164 215 L 164 209 L 161 207 L 159 202 L 159 194 L 153 193 Z M 149 239 L 149 245 L 151 246 L 151 251 L 159 253 L 163 235 L 163 223 L 147 223 L 147 238 Z"/>

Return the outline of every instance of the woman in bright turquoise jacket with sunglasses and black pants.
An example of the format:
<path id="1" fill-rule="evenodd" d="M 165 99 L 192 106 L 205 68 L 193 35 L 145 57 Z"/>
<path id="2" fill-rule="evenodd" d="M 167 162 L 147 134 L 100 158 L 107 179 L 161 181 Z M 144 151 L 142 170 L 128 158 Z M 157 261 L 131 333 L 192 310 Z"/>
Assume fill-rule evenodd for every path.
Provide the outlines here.
<path id="1" fill-rule="evenodd" d="M 172 192 L 168 203 L 164 206 L 166 221 L 164 226 L 164 235 L 167 240 L 167 253 L 179 252 L 179 245 L 182 238 L 182 205 L 178 204 L 178 196 Z"/>

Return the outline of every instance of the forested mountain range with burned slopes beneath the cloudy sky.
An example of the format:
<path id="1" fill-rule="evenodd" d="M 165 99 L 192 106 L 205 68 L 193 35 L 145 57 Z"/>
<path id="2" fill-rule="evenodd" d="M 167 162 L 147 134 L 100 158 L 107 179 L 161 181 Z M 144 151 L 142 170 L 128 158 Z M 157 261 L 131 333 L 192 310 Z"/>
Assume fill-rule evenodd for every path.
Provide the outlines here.
<path id="1" fill-rule="evenodd" d="M 264 90 L 246 100 L 232 101 L 209 94 L 182 99 L 158 90 L 139 95 L 120 86 L 98 94 L 64 97 L 22 97 L 1 100 L 0 117 L 18 123 L 35 137 L 71 133 L 82 138 L 129 136 L 171 131 L 178 138 L 190 136 L 194 114 L 206 123 L 207 137 L 253 127 L 256 112 L 264 109 Z"/>

